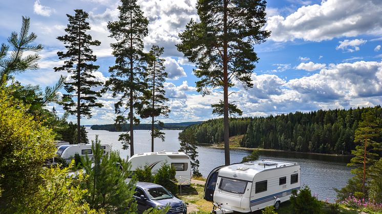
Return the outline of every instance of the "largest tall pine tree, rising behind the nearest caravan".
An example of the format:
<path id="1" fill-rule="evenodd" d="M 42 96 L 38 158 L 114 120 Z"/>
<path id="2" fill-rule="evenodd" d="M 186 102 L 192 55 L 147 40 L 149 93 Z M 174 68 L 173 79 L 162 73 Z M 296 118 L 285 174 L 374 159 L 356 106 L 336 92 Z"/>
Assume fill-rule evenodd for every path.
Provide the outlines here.
<path id="1" fill-rule="evenodd" d="M 252 87 L 250 75 L 259 60 L 253 45 L 270 35 L 261 30 L 266 22 L 265 6 L 261 0 L 199 0 L 200 22 L 190 20 L 179 34 L 182 43 L 178 50 L 197 65 L 194 72 L 201 78 L 197 90 L 205 95 L 217 87 L 223 89 L 226 165 L 230 164 L 228 116 L 232 104 L 228 102 L 228 88 L 234 86 L 235 79 L 244 88 Z"/>

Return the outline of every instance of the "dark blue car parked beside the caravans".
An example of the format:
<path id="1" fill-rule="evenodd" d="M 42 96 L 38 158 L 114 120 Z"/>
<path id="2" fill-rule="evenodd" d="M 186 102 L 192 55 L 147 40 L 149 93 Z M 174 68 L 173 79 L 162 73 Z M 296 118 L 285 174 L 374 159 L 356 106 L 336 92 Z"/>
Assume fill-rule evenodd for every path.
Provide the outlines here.
<path id="1" fill-rule="evenodd" d="M 138 204 L 138 213 L 151 207 L 162 208 L 167 204 L 171 207 L 167 213 L 187 213 L 184 202 L 173 196 L 166 188 L 159 184 L 138 182 L 134 198 Z"/>

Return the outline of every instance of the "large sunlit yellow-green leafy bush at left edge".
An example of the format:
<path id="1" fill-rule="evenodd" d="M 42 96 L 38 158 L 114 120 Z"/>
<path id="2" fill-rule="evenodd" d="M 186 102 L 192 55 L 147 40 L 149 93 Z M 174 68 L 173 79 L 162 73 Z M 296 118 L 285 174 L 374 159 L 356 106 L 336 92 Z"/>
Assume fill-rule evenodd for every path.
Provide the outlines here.
<path id="1" fill-rule="evenodd" d="M 0 85 L 0 186 L 2 212 L 23 203 L 43 182 L 45 160 L 56 150 L 54 133 L 28 114 L 28 106 L 10 94 L 14 85 Z"/>

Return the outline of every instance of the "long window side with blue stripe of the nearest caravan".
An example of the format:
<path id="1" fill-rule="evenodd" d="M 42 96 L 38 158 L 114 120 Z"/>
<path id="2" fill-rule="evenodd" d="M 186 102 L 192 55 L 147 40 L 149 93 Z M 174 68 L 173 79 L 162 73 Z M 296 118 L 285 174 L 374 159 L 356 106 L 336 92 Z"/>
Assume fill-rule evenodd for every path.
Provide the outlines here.
<path id="1" fill-rule="evenodd" d="M 251 189 L 251 211 L 272 206 L 278 200 L 280 202 L 289 200 L 293 189 L 300 189 L 300 165 L 280 167 L 258 173 L 254 176 Z"/>

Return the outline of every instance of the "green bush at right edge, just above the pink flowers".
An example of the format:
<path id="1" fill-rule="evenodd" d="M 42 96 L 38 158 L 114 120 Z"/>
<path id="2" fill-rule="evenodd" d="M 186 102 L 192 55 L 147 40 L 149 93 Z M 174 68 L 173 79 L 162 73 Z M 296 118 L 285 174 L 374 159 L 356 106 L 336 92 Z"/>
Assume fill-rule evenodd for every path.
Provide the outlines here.
<path id="1" fill-rule="evenodd" d="M 369 168 L 369 177 L 369 199 L 377 204 L 382 204 L 382 158 Z"/>

